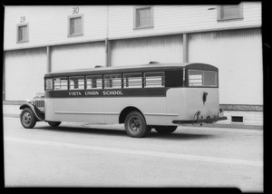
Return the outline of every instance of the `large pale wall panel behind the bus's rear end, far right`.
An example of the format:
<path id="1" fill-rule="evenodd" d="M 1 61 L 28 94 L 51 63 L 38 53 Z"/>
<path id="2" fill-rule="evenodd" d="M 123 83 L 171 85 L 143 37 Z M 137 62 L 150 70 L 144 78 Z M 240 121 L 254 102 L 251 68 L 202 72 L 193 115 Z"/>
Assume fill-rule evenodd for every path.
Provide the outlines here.
<path id="1" fill-rule="evenodd" d="M 263 104 L 260 29 L 190 34 L 189 62 L 219 68 L 219 103 Z"/>

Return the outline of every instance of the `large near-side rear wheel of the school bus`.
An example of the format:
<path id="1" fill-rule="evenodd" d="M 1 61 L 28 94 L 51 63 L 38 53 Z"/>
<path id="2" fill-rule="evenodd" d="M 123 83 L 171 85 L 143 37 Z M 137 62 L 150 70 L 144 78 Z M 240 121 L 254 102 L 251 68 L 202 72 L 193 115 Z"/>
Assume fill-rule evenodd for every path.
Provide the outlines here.
<path id="1" fill-rule="evenodd" d="M 151 128 L 146 125 L 146 121 L 141 112 L 130 112 L 124 121 L 125 131 L 132 138 L 142 138 L 146 136 Z"/>

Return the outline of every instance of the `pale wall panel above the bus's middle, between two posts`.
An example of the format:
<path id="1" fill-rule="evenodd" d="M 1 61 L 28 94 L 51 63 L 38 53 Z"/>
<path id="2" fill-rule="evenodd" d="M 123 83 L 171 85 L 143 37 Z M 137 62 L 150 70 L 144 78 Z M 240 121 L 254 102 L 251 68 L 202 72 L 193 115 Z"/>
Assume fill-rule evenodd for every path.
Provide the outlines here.
<path id="1" fill-rule="evenodd" d="M 117 40 L 112 42 L 112 66 L 182 62 L 182 35 Z"/>

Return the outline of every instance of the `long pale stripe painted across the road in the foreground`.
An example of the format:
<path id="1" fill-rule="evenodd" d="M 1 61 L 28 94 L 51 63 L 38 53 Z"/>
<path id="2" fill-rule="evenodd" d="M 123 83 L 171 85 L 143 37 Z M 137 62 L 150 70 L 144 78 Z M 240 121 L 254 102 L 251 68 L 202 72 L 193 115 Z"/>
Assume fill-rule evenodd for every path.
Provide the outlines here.
<path id="1" fill-rule="evenodd" d="M 4 140 L 12 141 L 12 142 L 28 143 L 28 144 L 65 147 L 65 148 L 71 148 L 71 149 L 108 151 L 108 152 L 141 155 L 141 156 L 149 156 L 149 157 L 153 156 L 153 157 L 162 157 L 162 158 L 170 158 L 170 159 L 195 160 L 195 161 L 218 162 L 218 163 L 226 163 L 226 164 L 238 164 L 238 165 L 263 167 L 263 161 L 257 161 L 257 160 L 238 160 L 238 159 L 197 156 L 197 155 L 189 155 L 189 154 L 148 151 L 148 150 L 127 150 L 127 149 L 106 148 L 106 147 L 99 147 L 99 146 L 79 145 L 79 144 L 63 143 L 63 142 L 55 142 L 55 141 L 36 141 L 31 139 L 11 138 L 11 137 L 5 137 Z"/>

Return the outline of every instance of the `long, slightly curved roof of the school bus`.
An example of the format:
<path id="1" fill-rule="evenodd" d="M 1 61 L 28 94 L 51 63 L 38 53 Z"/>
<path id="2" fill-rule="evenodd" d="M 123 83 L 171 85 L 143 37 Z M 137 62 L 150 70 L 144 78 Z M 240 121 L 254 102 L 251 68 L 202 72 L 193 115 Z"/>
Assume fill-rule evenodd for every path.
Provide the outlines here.
<path id="1" fill-rule="evenodd" d="M 83 75 L 83 74 L 101 74 L 101 73 L 132 73 L 132 72 L 144 72 L 144 71 L 164 71 L 164 70 L 178 70 L 182 68 L 201 69 L 218 71 L 218 68 L 207 63 L 148 63 L 141 65 L 129 65 L 129 66 L 114 66 L 114 67 L 95 67 L 88 69 L 76 69 L 58 71 L 53 73 L 46 73 L 44 77 L 53 76 L 71 76 L 71 75 Z"/>

